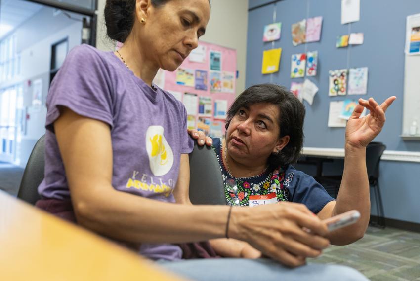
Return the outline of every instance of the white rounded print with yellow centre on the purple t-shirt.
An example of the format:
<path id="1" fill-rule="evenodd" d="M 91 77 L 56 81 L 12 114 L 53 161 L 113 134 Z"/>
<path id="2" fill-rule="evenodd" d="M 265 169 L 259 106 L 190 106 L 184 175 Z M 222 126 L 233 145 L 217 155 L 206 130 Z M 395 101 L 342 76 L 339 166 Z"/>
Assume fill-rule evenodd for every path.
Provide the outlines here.
<path id="1" fill-rule="evenodd" d="M 155 176 L 163 176 L 173 165 L 173 152 L 164 136 L 162 126 L 150 126 L 146 131 L 146 150 L 150 170 Z"/>

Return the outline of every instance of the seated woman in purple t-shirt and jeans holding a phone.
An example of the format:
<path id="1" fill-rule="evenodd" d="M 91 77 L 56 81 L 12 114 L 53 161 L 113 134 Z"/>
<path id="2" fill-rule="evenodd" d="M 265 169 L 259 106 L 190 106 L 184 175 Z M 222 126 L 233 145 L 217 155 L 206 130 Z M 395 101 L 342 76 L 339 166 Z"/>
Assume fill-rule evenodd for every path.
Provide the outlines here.
<path id="1" fill-rule="evenodd" d="M 209 0 L 107 0 L 108 35 L 124 45 L 76 47 L 52 81 L 37 206 L 195 280 L 364 280 L 342 266 L 280 265 L 303 265 L 329 245 L 326 224 L 302 205 L 190 204 L 187 113 L 152 81 L 181 65 L 209 18 Z M 176 243 L 224 237 L 272 260 L 181 260 Z"/>

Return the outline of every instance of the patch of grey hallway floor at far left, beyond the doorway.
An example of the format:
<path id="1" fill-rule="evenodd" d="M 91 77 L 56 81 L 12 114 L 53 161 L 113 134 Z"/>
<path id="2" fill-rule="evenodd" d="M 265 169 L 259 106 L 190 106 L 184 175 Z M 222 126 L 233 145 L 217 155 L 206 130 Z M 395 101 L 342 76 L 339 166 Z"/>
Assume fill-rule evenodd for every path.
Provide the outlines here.
<path id="1" fill-rule="evenodd" d="M 0 189 L 17 196 L 23 170 L 23 168 L 10 163 L 0 162 Z"/>

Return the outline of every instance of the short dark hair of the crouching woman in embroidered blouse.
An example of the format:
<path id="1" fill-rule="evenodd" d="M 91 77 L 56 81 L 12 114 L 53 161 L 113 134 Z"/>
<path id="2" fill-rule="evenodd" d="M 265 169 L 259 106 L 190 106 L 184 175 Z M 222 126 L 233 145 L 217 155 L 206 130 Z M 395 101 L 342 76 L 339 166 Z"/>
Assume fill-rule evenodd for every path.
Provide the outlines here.
<path id="1" fill-rule="evenodd" d="M 290 137 L 289 143 L 279 153 L 270 155 L 268 163 L 273 167 L 287 167 L 297 161 L 303 146 L 305 106 L 285 87 L 275 84 L 258 84 L 246 89 L 229 108 L 226 129 L 240 108 L 260 103 L 277 105 L 280 113 L 278 120 L 280 126 L 279 138 L 287 135 Z"/>

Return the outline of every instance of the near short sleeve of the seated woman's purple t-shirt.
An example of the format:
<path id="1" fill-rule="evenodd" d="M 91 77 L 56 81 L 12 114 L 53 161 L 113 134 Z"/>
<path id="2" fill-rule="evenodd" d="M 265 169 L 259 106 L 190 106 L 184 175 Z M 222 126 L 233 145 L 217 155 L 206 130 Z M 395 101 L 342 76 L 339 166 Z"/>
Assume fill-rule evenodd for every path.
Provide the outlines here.
<path id="1" fill-rule="evenodd" d="M 67 55 L 47 97 L 46 128 L 60 116 L 59 106 L 113 126 L 113 105 L 107 68 L 93 47 L 77 46 Z"/>

